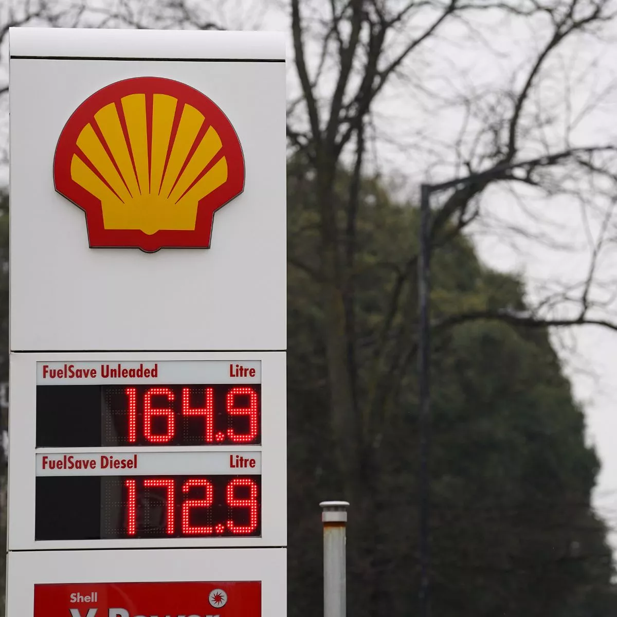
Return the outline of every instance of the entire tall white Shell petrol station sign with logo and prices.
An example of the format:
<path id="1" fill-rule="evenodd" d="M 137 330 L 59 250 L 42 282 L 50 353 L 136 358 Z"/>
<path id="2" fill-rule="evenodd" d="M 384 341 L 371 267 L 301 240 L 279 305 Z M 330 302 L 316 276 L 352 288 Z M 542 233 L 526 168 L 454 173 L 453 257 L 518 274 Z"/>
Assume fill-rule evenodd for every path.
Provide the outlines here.
<path id="1" fill-rule="evenodd" d="M 284 35 L 9 38 L 7 617 L 283 615 Z"/>

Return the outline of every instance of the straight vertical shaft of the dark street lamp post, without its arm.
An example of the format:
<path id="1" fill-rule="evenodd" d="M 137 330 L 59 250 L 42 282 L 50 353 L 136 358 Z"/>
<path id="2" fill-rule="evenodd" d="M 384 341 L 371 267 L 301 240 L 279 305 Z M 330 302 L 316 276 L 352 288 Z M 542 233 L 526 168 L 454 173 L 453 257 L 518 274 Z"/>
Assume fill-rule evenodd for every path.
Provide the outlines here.
<path id="1" fill-rule="evenodd" d="M 420 617 L 428 617 L 429 607 L 429 429 L 431 413 L 431 339 L 430 339 L 430 299 L 431 299 L 431 186 L 422 184 L 420 188 L 420 259 L 418 259 L 418 397 L 420 434 L 420 470 L 418 478 L 418 519 L 420 553 Z"/>

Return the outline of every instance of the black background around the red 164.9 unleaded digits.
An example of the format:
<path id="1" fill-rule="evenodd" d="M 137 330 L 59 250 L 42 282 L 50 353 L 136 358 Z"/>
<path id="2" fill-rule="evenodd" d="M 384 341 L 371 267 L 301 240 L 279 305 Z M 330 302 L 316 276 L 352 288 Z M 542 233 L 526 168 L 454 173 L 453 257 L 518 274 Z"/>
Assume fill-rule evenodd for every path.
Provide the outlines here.
<path id="1" fill-rule="evenodd" d="M 181 389 L 191 388 L 191 404 L 204 405 L 204 389 L 213 388 L 214 433 L 225 433 L 233 428 L 238 434 L 249 433 L 247 416 L 226 413 L 226 395 L 232 387 L 251 387 L 259 397 L 258 432 L 250 442 L 234 442 L 228 437 L 222 441 L 205 442 L 203 416 L 183 416 Z M 138 389 L 137 441 L 128 441 L 128 398 L 126 387 Z M 151 387 L 168 387 L 175 392 L 176 435 L 165 443 L 152 443 L 143 435 L 143 394 Z M 246 399 L 246 403 L 242 399 Z M 236 396 L 236 405 L 247 404 L 248 397 Z M 154 397 L 153 405 L 168 407 L 162 397 Z M 164 433 L 166 420 L 155 416 L 152 428 Z M 261 384 L 130 384 L 127 386 L 58 385 L 36 386 L 36 447 L 139 447 L 152 445 L 255 445 L 261 443 Z"/>

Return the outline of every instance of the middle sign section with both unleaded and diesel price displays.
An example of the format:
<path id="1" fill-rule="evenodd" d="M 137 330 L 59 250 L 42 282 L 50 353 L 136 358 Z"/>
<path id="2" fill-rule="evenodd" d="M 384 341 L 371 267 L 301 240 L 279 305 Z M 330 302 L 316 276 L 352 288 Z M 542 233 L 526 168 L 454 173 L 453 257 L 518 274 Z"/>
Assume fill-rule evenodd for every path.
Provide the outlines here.
<path id="1" fill-rule="evenodd" d="M 284 451 L 264 444 L 284 436 L 284 364 L 276 352 L 221 356 L 24 357 L 36 376 L 24 427 L 35 444 L 33 544 L 272 542 Z"/>

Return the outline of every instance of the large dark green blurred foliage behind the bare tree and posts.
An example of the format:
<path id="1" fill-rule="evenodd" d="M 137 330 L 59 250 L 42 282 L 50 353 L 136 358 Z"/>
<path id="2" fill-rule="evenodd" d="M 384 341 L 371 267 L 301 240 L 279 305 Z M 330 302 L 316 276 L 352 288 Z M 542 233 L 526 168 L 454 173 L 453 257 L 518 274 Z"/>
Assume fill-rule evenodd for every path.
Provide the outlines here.
<path id="1" fill-rule="evenodd" d="M 346 191 L 349 176 L 339 176 Z M 320 614 L 318 502 L 346 496 L 328 410 L 318 216 L 302 160 L 288 173 L 289 615 Z M 352 275 L 358 396 L 375 394 L 375 335 L 397 273 L 413 253 L 417 211 L 365 178 Z M 341 222 L 341 225 L 344 222 Z M 523 310 L 523 285 L 479 263 L 453 234 L 433 257 L 433 318 Z M 347 539 L 350 615 L 413 615 L 418 590 L 415 307 L 394 316 L 409 350 L 362 431 Z M 405 328 L 412 323 L 414 328 Z M 386 354 L 387 355 L 387 354 Z M 617 609 L 606 529 L 590 506 L 598 460 L 545 329 L 499 321 L 436 328 L 432 353 L 431 604 L 448 615 L 607 616 Z M 381 370 L 378 367 L 377 370 Z M 386 370 L 384 368 L 384 370 Z M 383 384 L 383 371 L 379 383 Z M 358 413 L 363 405 L 358 404 Z M 358 428 L 359 427 L 359 428 Z"/>

